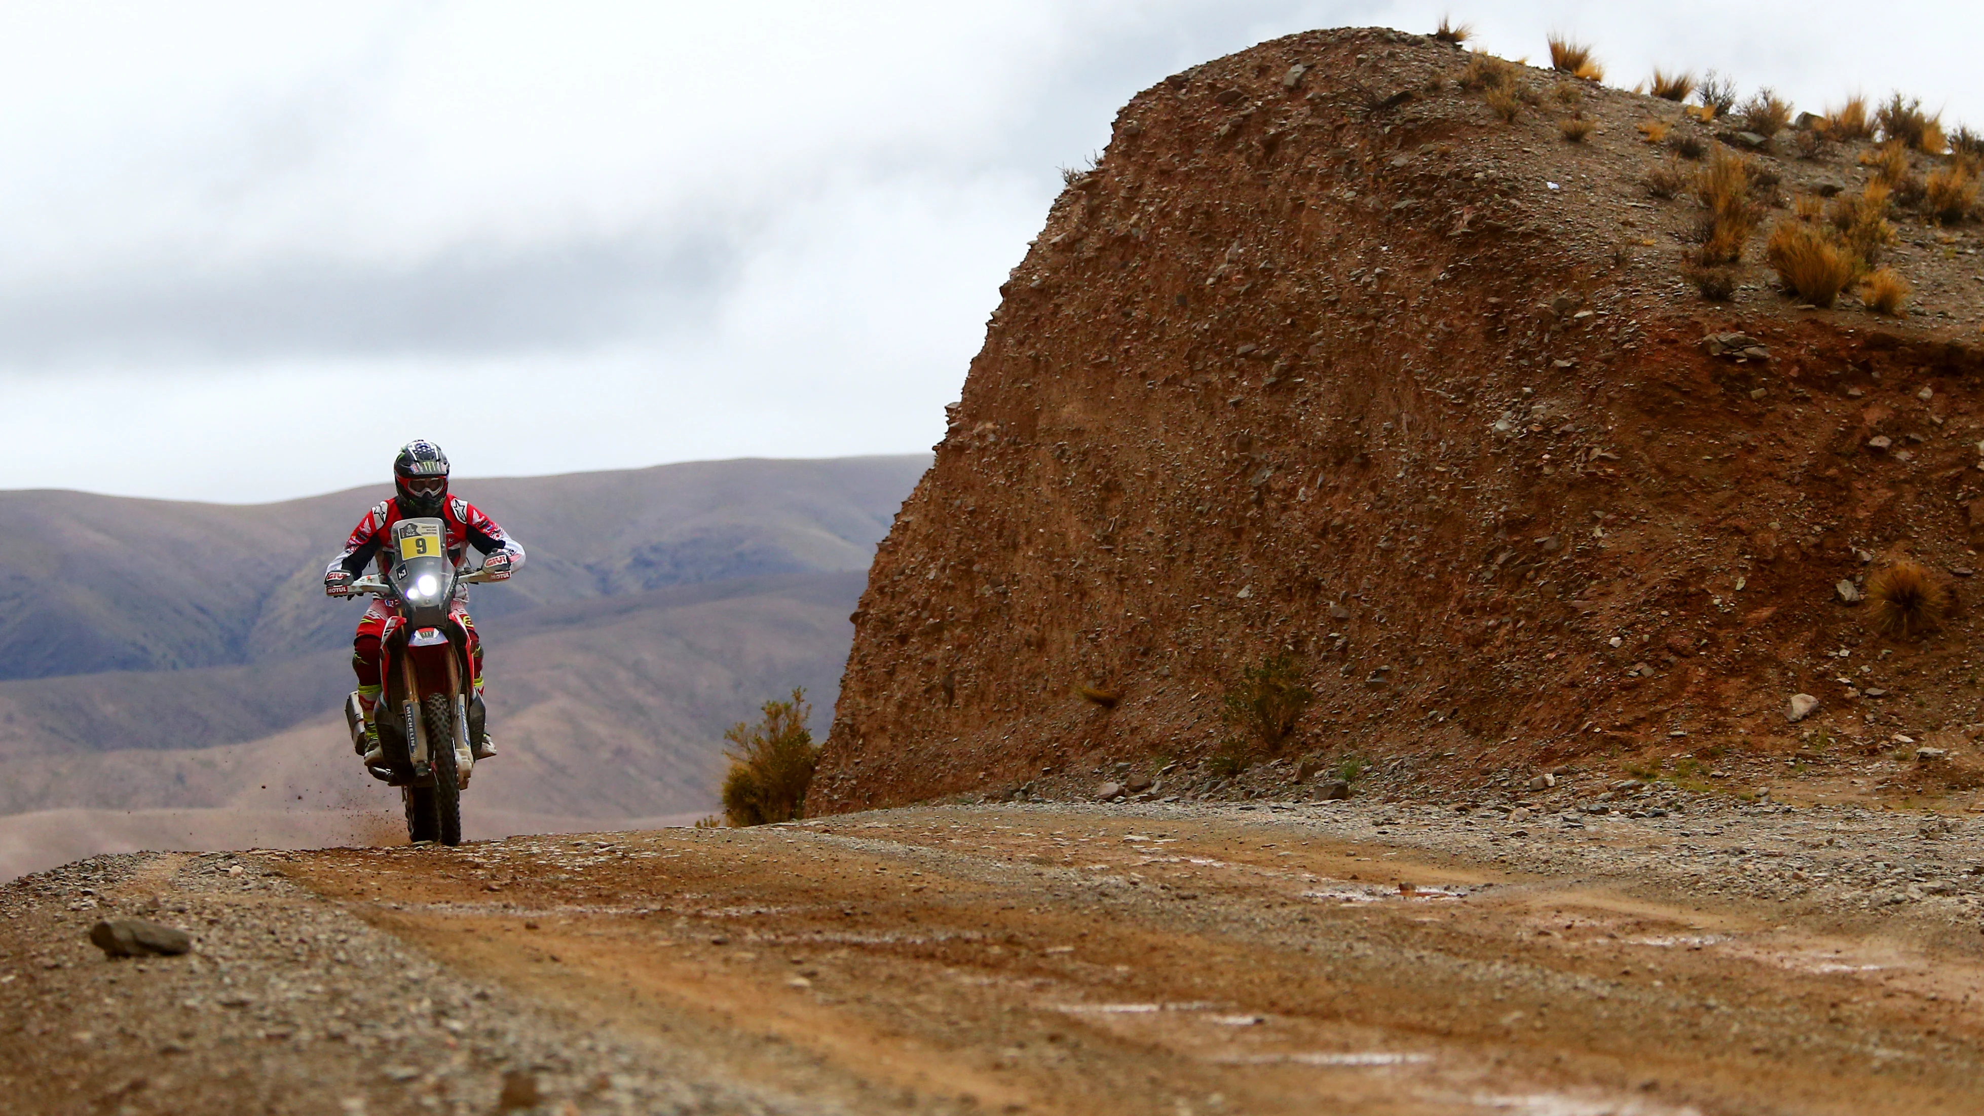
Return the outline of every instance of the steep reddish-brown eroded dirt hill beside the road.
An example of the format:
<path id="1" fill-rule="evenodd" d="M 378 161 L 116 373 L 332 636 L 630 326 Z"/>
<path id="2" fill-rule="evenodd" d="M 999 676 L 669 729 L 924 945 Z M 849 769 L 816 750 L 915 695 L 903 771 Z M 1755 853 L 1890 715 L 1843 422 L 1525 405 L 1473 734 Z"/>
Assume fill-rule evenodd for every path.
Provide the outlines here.
<path id="1" fill-rule="evenodd" d="M 1649 197 L 1635 125 L 1746 141 L 1538 70 L 1504 123 L 1466 62 L 1315 32 L 1121 111 L 881 546 L 811 812 L 1206 759 L 1278 651 L 1317 693 L 1298 753 L 1450 780 L 1980 719 L 1974 232 L 1897 214 L 1909 318 L 1799 308 L 1762 238 L 1867 171 L 1786 131 L 1746 151 L 1778 210 L 1736 302 L 1702 302 L 1702 210 Z M 1956 592 L 1926 641 L 1835 594 L 1897 556 Z"/>

